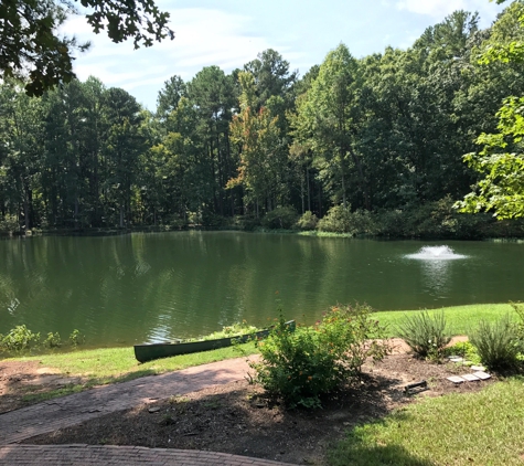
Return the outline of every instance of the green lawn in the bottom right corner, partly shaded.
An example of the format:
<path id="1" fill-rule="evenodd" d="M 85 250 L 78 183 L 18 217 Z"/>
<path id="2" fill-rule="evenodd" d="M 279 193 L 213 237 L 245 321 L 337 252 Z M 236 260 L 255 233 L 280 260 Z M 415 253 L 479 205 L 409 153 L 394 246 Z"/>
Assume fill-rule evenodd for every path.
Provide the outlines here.
<path id="1" fill-rule="evenodd" d="M 361 425 L 329 455 L 341 465 L 520 465 L 524 378 L 473 394 L 424 399 Z"/>

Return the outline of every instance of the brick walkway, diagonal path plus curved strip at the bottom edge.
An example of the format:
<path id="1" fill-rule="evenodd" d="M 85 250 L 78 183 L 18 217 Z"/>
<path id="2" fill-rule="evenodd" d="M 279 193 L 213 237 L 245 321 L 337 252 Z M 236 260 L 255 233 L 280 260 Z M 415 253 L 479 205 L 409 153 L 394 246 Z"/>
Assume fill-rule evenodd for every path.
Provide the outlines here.
<path id="1" fill-rule="evenodd" d="M 17 445 L 111 412 L 243 380 L 244 358 L 103 385 L 0 414 L 0 465 L 282 465 L 223 453 L 101 445 Z"/>

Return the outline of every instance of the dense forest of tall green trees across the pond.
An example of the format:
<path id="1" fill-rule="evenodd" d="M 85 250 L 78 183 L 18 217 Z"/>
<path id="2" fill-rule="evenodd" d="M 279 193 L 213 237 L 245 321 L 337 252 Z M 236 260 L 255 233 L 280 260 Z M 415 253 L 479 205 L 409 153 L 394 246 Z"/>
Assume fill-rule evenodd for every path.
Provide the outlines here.
<path id="1" fill-rule="evenodd" d="M 461 214 L 463 156 L 494 133 L 524 64 L 481 63 L 521 40 L 514 2 L 489 29 L 457 11 L 411 47 L 340 44 L 303 76 L 274 50 L 225 74 L 174 75 L 156 113 L 96 77 L 29 97 L 0 84 L 0 230 L 320 229 L 389 236 L 523 235 Z"/>

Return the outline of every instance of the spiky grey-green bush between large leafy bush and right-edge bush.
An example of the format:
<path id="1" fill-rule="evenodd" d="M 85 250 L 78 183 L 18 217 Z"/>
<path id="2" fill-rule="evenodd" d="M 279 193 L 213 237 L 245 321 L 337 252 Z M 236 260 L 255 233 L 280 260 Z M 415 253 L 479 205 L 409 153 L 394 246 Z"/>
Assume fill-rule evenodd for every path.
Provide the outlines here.
<path id="1" fill-rule="evenodd" d="M 446 332 L 443 311 L 435 313 L 432 316 L 427 310 L 413 317 L 406 315 L 398 328 L 398 336 L 417 356 L 432 360 L 442 358 L 443 348 L 451 340 Z"/>

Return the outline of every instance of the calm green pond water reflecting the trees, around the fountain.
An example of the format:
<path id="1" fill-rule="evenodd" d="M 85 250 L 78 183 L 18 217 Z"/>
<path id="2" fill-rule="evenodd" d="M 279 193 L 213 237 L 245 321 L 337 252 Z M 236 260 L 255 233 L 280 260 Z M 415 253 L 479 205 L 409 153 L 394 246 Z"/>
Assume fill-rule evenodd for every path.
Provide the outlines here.
<path id="1" fill-rule="evenodd" d="M 466 257 L 406 257 L 424 245 Z M 75 328 L 90 346 L 194 337 L 336 303 L 376 309 L 524 299 L 524 244 L 175 232 L 0 241 L 0 333 Z"/>

